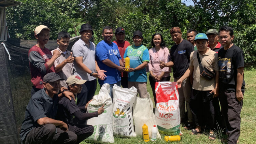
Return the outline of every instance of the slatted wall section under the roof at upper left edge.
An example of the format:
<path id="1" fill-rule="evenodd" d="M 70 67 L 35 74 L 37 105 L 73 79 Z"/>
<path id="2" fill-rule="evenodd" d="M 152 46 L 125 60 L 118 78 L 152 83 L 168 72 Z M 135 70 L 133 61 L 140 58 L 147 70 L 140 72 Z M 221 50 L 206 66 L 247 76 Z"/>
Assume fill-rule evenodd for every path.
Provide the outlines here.
<path id="1" fill-rule="evenodd" d="M 0 41 L 7 41 L 5 8 L 0 6 Z"/>

